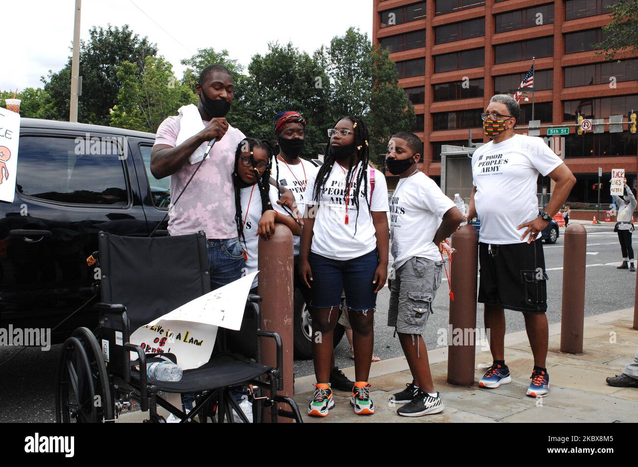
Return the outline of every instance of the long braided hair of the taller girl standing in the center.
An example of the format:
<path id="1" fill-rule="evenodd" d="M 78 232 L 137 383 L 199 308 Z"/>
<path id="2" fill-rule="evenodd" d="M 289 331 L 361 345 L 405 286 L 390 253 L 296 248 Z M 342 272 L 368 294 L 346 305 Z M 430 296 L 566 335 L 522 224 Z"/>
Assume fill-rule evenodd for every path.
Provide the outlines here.
<path id="1" fill-rule="evenodd" d="M 345 203 L 346 196 L 348 196 L 348 187 L 352 183 L 352 179 L 354 174 L 355 165 L 355 154 L 357 155 L 357 166 L 359 166 L 359 162 L 361 162 L 361 170 L 357 172 L 357 187 L 355 188 L 355 192 L 353 194 L 353 203 L 357 206 L 357 219 L 355 219 L 355 234 L 357 234 L 357 220 L 359 220 L 359 195 L 361 191 L 361 186 L 363 186 L 363 194 L 366 199 L 368 212 L 370 208 L 370 202 L 367 199 L 367 166 L 370 162 L 370 148 L 369 148 L 369 140 L 370 135 L 367 131 L 367 125 L 364 119 L 355 115 L 346 115 L 345 117 L 339 117 L 339 120 L 350 120 L 352 122 L 352 126 L 354 128 L 355 134 L 355 151 L 350 155 L 350 167 L 348 167 L 348 173 L 346 173 L 346 185 L 343 190 L 343 201 Z M 339 121 L 338 120 L 338 121 Z M 325 152 L 325 157 L 323 160 L 323 165 L 320 167 L 316 179 L 315 179 L 315 187 L 313 188 L 313 198 L 315 201 L 319 201 L 323 188 L 325 187 L 325 183 L 330 176 L 330 172 L 332 171 L 332 166 L 336 161 L 334 154 L 332 154 L 332 147 L 330 146 L 330 140 L 328 140 L 328 145 Z M 348 198 L 352 198 L 348 196 Z"/>

